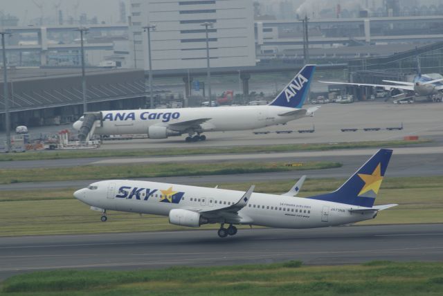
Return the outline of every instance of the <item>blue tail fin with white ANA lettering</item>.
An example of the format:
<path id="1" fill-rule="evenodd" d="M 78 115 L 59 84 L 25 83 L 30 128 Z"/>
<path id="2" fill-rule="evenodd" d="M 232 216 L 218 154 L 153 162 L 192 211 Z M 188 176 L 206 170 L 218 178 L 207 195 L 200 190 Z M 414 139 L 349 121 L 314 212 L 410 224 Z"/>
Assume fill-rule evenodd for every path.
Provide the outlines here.
<path id="1" fill-rule="evenodd" d="M 308 95 L 309 85 L 315 71 L 315 65 L 304 66 L 269 105 L 300 109 Z"/>

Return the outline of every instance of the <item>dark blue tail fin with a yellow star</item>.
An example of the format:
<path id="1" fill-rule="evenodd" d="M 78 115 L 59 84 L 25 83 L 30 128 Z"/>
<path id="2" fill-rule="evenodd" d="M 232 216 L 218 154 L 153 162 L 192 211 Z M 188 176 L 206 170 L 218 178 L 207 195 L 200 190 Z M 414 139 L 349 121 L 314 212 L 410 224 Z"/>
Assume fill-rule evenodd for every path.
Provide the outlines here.
<path id="1" fill-rule="evenodd" d="M 309 198 L 372 207 L 391 155 L 392 150 L 380 149 L 336 191 Z"/>

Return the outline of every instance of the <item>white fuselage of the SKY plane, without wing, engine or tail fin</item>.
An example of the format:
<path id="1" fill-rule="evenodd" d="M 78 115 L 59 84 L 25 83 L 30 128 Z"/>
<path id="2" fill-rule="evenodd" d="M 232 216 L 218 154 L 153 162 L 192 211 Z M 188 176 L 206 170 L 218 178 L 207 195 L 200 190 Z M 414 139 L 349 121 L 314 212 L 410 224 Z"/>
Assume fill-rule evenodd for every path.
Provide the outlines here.
<path id="1" fill-rule="evenodd" d="M 94 189 L 80 189 L 75 197 L 93 207 L 105 210 L 155 214 L 168 216 L 173 209 L 192 210 L 195 212 L 217 210 L 228 207 L 239 201 L 244 192 L 174 185 L 145 181 L 112 180 L 93 183 Z M 129 187 L 139 190 L 138 198 L 129 194 L 124 198 L 116 197 L 119 188 Z M 172 187 L 172 188 L 171 188 Z M 161 190 L 172 189 L 181 194 L 179 201 L 165 201 Z M 147 190 L 146 190 L 147 189 Z M 155 190 L 153 192 L 153 190 Z M 120 195 L 121 196 L 121 195 Z M 309 198 L 281 196 L 275 194 L 253 193 L 248 204 L 239 210 L 242 219 L 236 224 L 261 225 L 273 228 L 320 228 L 332 225 L 355 223 L 374 218 L 374 213 L 352 213 L 350 206 L 343 203 L 333 203 Z"/>

